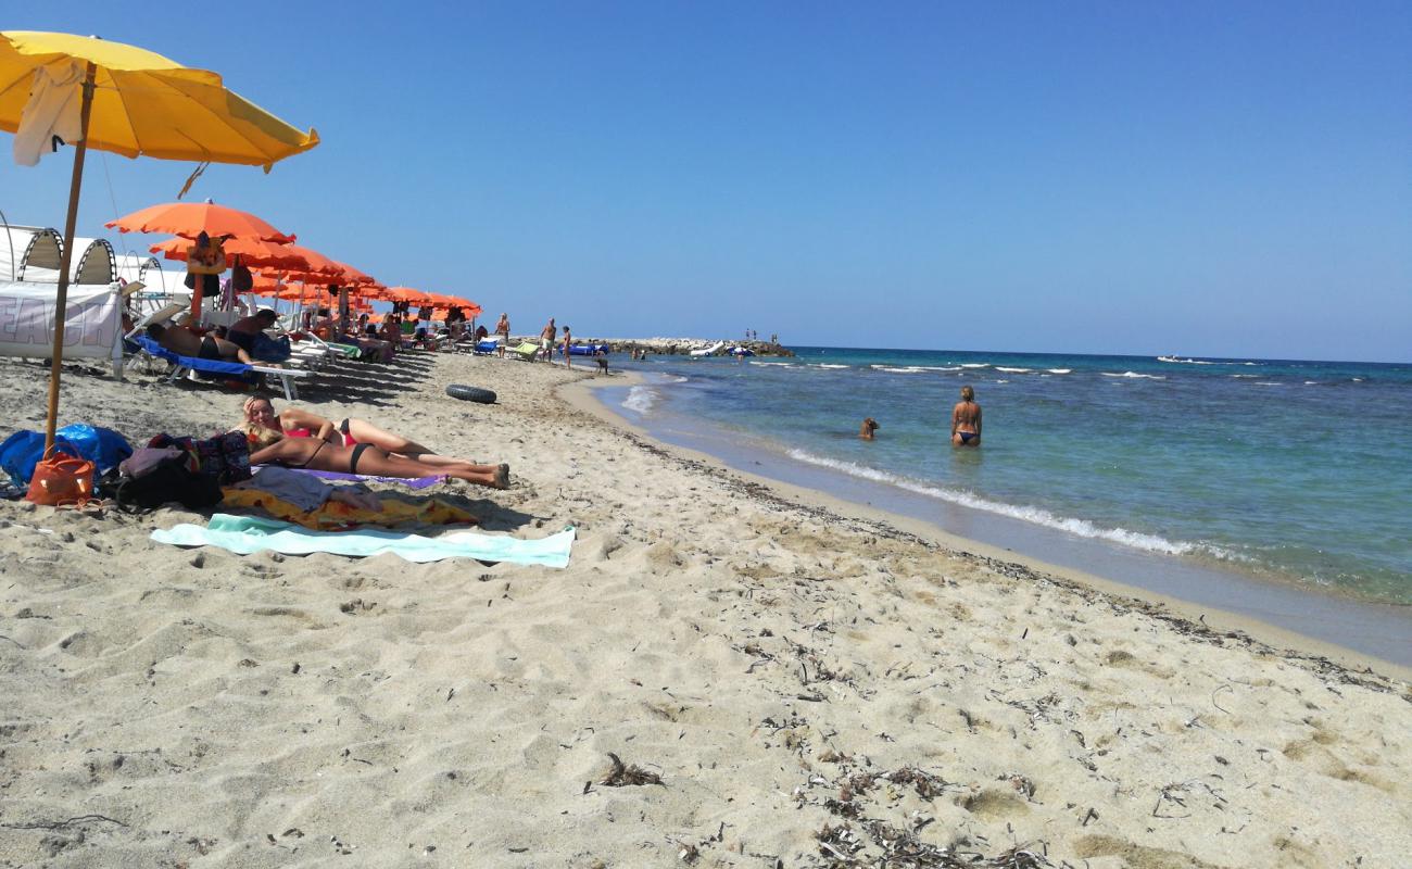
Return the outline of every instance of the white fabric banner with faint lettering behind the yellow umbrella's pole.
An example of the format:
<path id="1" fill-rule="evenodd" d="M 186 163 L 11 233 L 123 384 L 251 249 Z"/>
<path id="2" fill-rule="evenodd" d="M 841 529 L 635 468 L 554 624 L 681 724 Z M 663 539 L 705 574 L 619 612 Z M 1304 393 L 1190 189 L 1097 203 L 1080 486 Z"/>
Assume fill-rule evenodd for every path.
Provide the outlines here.
<path id="1" fill-rule="evenodd" d="M 0 283 L 0 356 L 54 355 L 55 284 Z M 117 287 L 69 287 L 64 315 L 65 359 L 123 359 L 123 308 Z"/>

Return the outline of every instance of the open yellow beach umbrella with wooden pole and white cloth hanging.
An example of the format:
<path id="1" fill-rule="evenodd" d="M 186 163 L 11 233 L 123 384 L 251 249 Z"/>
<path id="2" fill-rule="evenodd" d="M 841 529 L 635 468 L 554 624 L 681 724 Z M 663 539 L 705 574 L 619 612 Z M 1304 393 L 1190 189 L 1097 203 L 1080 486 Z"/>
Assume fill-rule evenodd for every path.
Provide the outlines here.
<path id="1" fill-rule="evenodd" d="M 73 117 L 78 97 L 78 117 Z M 89 147 L 124 157 L 261 165 L 319 144 L 226 89 L 220 76 L 160 54 L 96 37 L 0 31 L 0 129 L 16 133 L 16 161 L 38 160 L 40 144 L 59 134 L 73 150 L 64 257 L 55 301 L 54 366 L 45 448 L 54 442 L 83 157 Z"/>

